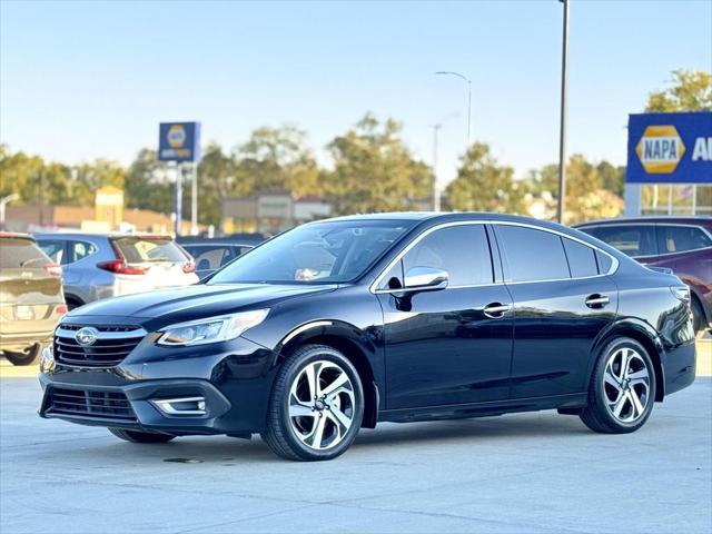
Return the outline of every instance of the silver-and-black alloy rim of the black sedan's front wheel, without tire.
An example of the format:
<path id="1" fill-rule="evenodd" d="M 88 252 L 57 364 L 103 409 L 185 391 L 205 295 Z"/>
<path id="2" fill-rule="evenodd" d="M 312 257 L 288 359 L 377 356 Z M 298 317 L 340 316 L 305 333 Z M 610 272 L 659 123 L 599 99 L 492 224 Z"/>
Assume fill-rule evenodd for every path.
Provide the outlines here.
<path id="1" fill-rule="evenodd" d="M 289 423 L 306 446 L 325 451 L 338 445 L 354 423 L 354 385 L 337 364 L 307 364 L 289 389 Z"/>

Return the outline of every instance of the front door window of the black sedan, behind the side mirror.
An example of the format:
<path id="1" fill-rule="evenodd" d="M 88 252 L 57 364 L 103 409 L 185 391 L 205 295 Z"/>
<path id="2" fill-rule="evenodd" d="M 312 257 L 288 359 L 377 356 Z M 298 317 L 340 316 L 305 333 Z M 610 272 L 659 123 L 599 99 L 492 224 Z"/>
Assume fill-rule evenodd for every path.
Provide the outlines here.
<path id="1" fill-rule="evenodd" d="M 492 258 L 484 225 L 442 228 L 427 235 L 403 258 L 403 271 L 413 267 L 446 270 L 451 286 L 492 284 Z"/>

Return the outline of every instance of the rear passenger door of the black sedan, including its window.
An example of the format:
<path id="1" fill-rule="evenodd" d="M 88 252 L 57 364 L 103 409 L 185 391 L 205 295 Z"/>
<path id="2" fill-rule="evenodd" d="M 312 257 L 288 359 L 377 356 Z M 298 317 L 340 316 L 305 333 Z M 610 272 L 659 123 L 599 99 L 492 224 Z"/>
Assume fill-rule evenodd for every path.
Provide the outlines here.
<path id="1" fill-rule="evenodd" d="M 594 340 L 617 309 L 616 286 L 603 274 L 611 257 L 553 231 L 495 228 L 514 301 L 512 398 L 586 390 Z"/>

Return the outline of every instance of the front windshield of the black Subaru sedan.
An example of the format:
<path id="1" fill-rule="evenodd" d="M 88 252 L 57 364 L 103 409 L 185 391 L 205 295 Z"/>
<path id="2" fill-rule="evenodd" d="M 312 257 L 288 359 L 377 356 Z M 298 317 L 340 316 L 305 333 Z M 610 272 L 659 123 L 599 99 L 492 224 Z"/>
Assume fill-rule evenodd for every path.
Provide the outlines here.
<path id="1" fill-rule="evenodd" d="M 413 227 L 404 220 L 342 220 L 297 227 L 218 271 L 208 284 L 349 281 Z"/>

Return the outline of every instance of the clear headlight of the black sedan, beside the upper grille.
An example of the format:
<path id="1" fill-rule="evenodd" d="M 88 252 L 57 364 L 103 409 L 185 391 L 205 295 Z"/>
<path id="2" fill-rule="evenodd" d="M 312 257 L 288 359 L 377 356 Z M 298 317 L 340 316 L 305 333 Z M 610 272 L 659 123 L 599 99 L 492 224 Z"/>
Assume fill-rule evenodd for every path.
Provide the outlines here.
<path id="1" fill-rule="evenodd" d="M 187 346 L 206 343 L 227 342 L 243 335 L 249 328 L 259 325 L 269 309 L 254 309 L 240 314 L 191 320 L 162 328 L 157 345 Z"/>

